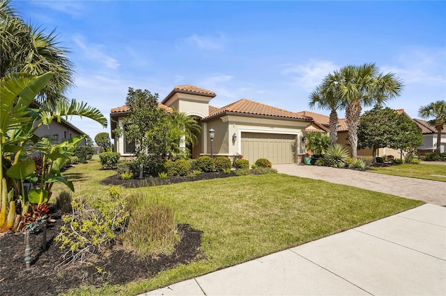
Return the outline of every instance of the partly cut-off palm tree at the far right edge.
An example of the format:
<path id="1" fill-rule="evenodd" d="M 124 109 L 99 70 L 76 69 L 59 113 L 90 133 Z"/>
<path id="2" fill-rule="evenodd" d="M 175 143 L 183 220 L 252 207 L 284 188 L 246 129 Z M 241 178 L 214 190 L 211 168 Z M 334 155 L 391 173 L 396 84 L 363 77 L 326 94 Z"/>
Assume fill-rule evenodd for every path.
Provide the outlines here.
<path id="1" fill-rule="evenodd" d="M 420 110 L 418 110 L 418 115 L 426 120 L 433 117 L 433 119 L 429 120 L 427 123 L 435 126 L 435 129 L 437 130 L 436 152 L 440 154 L 441 131 L 446 125 L 446 101 L 436 101 L 429 105 L 422 106 L 420 107 Z"/>

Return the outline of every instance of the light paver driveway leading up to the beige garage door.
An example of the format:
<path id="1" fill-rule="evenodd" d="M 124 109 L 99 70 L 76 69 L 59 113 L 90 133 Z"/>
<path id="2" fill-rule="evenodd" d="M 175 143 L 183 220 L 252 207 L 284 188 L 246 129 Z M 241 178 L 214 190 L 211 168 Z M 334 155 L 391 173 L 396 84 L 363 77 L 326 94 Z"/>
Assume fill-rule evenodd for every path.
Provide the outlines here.
<path id="1" fill-rule="evenodd" d="M 273 167 L 281 174 L 344 184 L 446 206 L 446 182 L 295 163 Z"/>

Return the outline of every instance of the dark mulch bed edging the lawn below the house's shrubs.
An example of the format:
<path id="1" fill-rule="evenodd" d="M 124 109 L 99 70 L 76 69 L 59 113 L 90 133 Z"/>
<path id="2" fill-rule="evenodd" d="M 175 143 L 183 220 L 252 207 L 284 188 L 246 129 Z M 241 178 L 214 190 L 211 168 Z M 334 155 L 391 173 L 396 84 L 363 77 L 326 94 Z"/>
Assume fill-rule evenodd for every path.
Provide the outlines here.
<path id="1" fill-rule="evenodd" d="M 148 176 L 145 179 L 129 179 L 123 180 L 119 174 L 114 174 L 108 178 L 100 181 L 102 185 L 121 185 L 126 188 L 139 188 L 146 186 L 160 186 L 168 185 L 181 182 L 199 181 L 199 180 L 209 180 L 217 178 L 227 178 L 229 176 L 235 176 L 234 172 L 230 174 L 224 174 L 223 172 L 201 172 L 197 176 L 168 176 L 166 179 L 161 179 L 160 177 Z"/>

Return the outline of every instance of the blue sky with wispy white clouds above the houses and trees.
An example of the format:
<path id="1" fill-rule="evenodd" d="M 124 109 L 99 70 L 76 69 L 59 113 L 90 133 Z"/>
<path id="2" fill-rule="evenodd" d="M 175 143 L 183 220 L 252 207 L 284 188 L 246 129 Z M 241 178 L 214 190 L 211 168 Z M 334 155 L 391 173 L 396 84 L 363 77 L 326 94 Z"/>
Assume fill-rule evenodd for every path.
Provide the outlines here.
<path id="1" fill-rule="evenodd" d="M 294 112 L 345 65 L 376 63 L 406 85 L 387 106 L 417 117 L 446 98 L 446 1 L 21 1 L 33 25 L 70 49 L 67 96 L 102 111 L 128 87 L 160 94 L 192 84 L 222 107 L 251 99 Z M 328 115 L 326 110 L 315 112 Z M 339 117 L 344 117 L 341 111 Z M 100 124 L 73 117 L 94 138 Z"/>

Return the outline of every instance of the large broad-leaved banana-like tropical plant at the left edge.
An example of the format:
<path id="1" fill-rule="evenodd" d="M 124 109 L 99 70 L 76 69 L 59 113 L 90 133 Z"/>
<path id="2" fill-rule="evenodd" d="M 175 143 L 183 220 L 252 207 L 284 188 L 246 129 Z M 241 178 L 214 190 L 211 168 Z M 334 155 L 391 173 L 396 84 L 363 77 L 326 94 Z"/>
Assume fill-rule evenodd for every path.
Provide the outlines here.
<path id="1" fill-rule="evenodd" d="M 100 122 L 107 126 L 107 119 L 95 108 L 86 106 L 84 103 L 71 103 L 65 100 L 58 101 L 52 108 L 42 106 L 40 109 L 31 109 L 29 106 L 34 98 L 51 79 L 52 73 L 41 76 L 30 74 L 11 73 L 4 76 L 0 81 L 0 179 L 2 188 L 0 191 L 12 192 L 8 196 L 10 202 L 18 201 L 21 215 L 28 213 L 31 209 L 29 203 L 42 204 L 51 197 L 51 188 L 54 182 L 65 183 L 70 189 L 72 183 L 61 175 L 61 169 L 66 161 L 72 156 L 72 152 L 84 139 L 84 135 L 52 145 L 48 138 L 38 138 L 35 131 L 43 124 L 49 124 L 53 120 L 60 122 L 62 117 L 68 115 L 82 115 Z M 28 151 L 28 149 L 31 151 Z M 36 163 L 28 155 L 38 151 L 43 154 L 43 172 L 38 179 L 33 172 Z M 6 172 L 6 174 L 4 174 Z M 26 194 L 24 190 L 25 180 L 38 183 Z M 3 183 L 6 184 L 3 186 Z M 12 188 L 12 190 L 10 190 Z M 2 195 L 5 196 L 5 195 Z M 1 211 L 6 207 L 2 207 Z M 15 221 L 19 221 L 20 217 Z M 0 220 L 0 224 L 3 221 Z M 17 229 L 15 223 L 14 228 Z"/>

